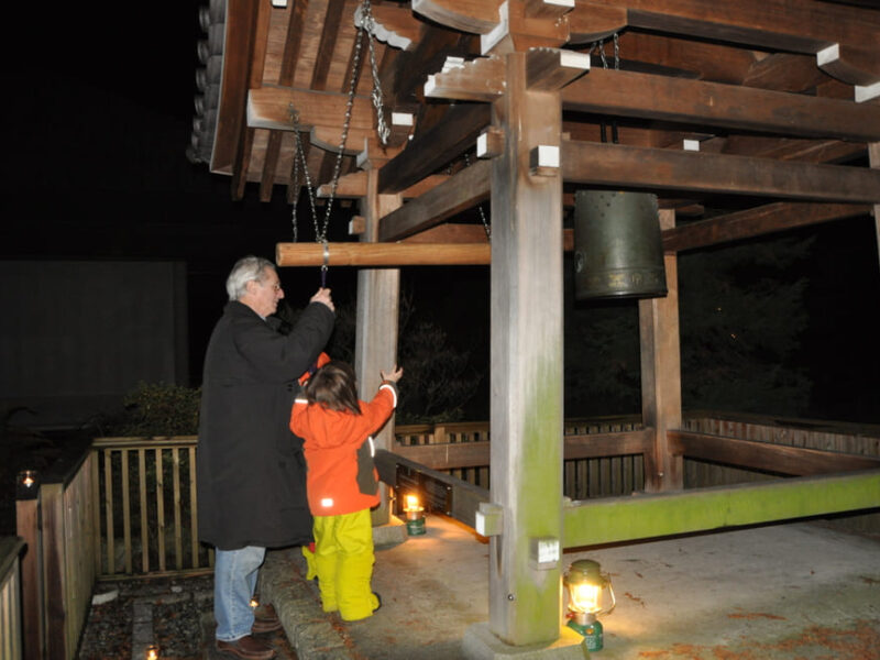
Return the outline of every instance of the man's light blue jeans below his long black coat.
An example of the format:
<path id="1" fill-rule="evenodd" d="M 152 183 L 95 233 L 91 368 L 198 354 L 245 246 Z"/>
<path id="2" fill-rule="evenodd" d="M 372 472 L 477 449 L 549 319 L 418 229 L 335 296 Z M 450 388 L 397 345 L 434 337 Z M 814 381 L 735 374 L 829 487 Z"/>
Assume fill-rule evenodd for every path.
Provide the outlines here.
<path id="1" fill-rule="evenodd" d="M 254 625 L 251 598 L 265 557 L 266 549 L 256 546 L 240 550 L 218 549 L 215 552 L 213 617 L 217 619 L 217 639 L 235 641 L 251 634 Z"/>

